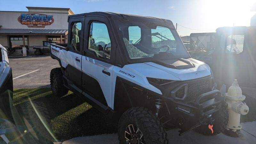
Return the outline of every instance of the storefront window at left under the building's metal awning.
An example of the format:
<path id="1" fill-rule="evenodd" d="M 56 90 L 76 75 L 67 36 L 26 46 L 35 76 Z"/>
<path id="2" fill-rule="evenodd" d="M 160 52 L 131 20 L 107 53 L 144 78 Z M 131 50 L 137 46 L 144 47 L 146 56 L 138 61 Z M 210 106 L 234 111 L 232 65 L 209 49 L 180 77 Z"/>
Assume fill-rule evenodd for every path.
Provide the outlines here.
<path id="1" fill-rule="evenodd" d="M 28 37 L 25 36 L 25 46 L 28 47 Z M 22 36 L 10 36 L 11 47 L 15 49 L 22 49 L 23 37 Z"/>

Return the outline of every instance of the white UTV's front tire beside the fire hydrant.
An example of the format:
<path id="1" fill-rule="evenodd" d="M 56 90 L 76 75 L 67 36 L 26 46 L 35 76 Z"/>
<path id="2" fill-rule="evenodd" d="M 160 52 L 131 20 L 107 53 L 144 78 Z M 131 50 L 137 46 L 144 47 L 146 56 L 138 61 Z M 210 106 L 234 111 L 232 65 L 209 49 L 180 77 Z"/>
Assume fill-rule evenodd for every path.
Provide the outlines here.
<path id="1" fill-rule="evenodd" d="M 208 128 L 208 125 L 201 125 L 197 127 L 195 131 L 203 135 L 217 135 L 225 130 L 226 125 L 228 124 L 228 104 L 225 103 L 219 112 L 212 114 L 212 118 L 214 118 L 212 127 L 213 133 Z"/>

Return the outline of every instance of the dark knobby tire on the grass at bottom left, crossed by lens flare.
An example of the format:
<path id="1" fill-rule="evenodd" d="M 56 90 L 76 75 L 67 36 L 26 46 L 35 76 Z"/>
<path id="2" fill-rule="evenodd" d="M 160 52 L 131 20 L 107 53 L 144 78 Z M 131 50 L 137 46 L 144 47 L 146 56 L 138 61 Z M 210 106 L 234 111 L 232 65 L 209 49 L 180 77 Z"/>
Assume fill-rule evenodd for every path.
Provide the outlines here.
<path id="1" fill-rule="evenodd" d="M 53 138 L 50 134 L 50 132 L 52 132 L 50 125 L 51 121 L 47 108 L 41 101 L 32 101 L 32 103 L 36 110 L 33 108 L 30 101 L 25 102 L 20 106 L 24 125 L 23 127 L 27 131 L 24 133 L 24 140 L 26 143 L 34 144 L 52 143 Z M 36 114 L 36 111 L 39 116 Z"/>

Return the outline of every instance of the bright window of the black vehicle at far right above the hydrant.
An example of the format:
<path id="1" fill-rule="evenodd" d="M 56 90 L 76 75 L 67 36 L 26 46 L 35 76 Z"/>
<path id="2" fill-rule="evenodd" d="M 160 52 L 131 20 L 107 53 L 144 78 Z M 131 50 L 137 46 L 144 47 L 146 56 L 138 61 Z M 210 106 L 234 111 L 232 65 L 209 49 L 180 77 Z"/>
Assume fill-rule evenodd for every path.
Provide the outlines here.
<path id="1" fill-rule="evenodd" d="M 241 53 L 244 49 L 244 35 L 230 35 L 226 40 L 226 53 Z"/>

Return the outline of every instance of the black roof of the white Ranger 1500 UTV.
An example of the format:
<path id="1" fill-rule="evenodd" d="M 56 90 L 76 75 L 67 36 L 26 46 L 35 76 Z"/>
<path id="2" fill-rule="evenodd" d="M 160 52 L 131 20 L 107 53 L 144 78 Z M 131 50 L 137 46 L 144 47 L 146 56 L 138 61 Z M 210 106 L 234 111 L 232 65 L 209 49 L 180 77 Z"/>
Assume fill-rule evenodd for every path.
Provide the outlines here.
<path id="1" fill-rule="evenodd" d="M 81 13 L 81 14 L 75 14 L 75 15 L 69 15 L 69 18 L 75 18 L 75 17 L 80 17 L 80 16 L 105 16 L 105 17 L 110 17 L 110 18 L 120 18 L 120 19 L 124 19 L 124 20 L 129 20 L 129 19 L 133 19 L 133 20 L 145 20 L 145 21 L 159 21 L 159 20 L 163 20 L 163 21 L 169 21 L 172 22 L 171 20 L 167 20 L 167 19 L 161 19 L 161 18 L 156 18 L 156 17 L 149 17 L 149 16 L 139 16 L 139 15 L 132 15 L 132 14 L 123 14 L 123 13 L 115 13 L 115 12 L 89 12 L 89 13 Z"/>

